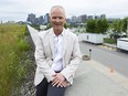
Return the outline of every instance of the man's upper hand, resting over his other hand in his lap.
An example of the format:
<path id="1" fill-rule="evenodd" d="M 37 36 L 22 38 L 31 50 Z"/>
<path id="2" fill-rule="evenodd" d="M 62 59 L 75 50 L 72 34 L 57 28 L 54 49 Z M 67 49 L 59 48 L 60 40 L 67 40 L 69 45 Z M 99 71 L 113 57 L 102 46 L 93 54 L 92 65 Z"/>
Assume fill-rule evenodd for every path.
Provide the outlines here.
<path id="1" fill-rule="evenodd" d="M 61 87 L 66 87 L 67 86 L 67 81 L 65 79 L 63 74 L 56 73 L 56 75 L 54 75 L 52 85 L 57 86 L 57 87 L 60 87 L 60 86 Z"/>

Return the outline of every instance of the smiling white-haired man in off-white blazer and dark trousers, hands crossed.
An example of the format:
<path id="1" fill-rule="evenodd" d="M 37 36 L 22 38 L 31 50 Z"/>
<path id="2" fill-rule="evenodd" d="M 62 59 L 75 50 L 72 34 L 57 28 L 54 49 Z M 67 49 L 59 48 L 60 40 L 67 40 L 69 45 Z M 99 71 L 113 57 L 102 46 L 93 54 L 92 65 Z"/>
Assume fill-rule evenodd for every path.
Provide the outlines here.
<path id="1" fill-rule="evenodd" d="M 64 29 L 66 18 L 61 6 L 51 9 L 50 22 L 53 28 L 39 33 L 35 47 L 36 96 L 64 96 L 81 62 L 79 45 L 77 36 Z"/>

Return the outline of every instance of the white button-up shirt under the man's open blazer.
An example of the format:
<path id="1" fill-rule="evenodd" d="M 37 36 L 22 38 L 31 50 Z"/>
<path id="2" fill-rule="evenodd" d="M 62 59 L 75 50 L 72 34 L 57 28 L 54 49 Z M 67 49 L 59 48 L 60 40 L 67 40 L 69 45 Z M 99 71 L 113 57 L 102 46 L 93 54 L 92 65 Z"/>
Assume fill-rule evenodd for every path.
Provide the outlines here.
<path id="1" fill-rule="evenodd" d="M 64 31 L 60 35 L 54 34 L 54 57 L 52 68 L 55 72 L 60 72 L 63 70 L 63 61 L 62 61 L 62 41 L 64 36 Z"/>

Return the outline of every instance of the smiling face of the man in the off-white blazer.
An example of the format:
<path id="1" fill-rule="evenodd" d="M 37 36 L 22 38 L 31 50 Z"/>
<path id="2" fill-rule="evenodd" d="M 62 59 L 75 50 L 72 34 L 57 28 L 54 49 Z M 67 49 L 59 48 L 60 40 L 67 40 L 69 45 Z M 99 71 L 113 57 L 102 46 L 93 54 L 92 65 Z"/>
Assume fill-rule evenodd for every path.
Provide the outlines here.
<path id="1" fill-rule="evenodd" d="M 53 25 L 54 30 L 63 30 L 64 23 L 65 23 L 65 14 L 62 9 L 53 9 L 50 15 L 50 22 Z"/>

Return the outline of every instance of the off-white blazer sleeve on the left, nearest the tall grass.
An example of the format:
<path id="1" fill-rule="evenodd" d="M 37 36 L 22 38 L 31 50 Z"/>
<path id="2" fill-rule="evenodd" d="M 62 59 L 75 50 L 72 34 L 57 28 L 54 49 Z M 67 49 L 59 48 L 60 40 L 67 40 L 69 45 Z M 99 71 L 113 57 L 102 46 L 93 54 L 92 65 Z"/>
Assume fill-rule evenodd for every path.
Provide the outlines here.
<path id="1" fill-rule="evenodd" d="M 55 72 L 49 65 L 49 62 L 51 60 L 46 61 L 46 56 L 45 56 L 44 47 L 43 47 L 43 41 L 40 33 L 39 33 L 36 45 L 35 45 L 34 56 L 35 56 L 38 68 L 40 68 L 40 71 L 43 73 L 42 75 L 46 77 L 47 82 L 53 81 L 52 75 L 55 75 Z"/>

